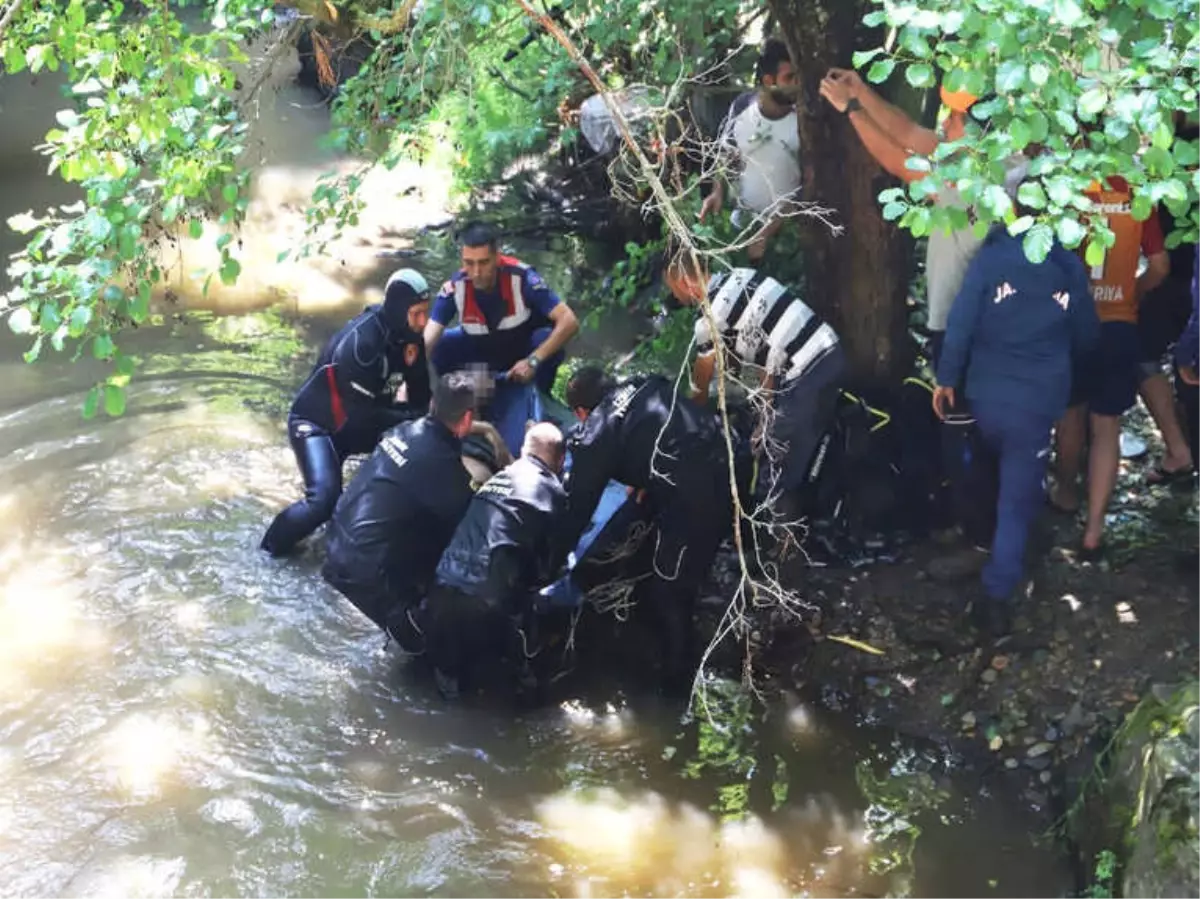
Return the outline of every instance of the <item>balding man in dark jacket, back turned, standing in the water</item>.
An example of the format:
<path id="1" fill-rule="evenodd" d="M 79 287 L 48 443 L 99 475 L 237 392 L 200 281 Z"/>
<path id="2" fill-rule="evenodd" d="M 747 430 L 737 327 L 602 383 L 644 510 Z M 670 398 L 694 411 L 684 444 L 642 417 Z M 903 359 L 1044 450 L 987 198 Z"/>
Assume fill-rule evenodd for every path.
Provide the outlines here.
<path id="1" fill-rule="evenodd" d="M 565 456 L 558 427 L 533 425 L 521 457 L 479 489 L 442 553 L 418 625 L 446 699 L 474 683 L 480 663 L 510 648 L 524 666 L 532 591 L 566 557 Z"/>

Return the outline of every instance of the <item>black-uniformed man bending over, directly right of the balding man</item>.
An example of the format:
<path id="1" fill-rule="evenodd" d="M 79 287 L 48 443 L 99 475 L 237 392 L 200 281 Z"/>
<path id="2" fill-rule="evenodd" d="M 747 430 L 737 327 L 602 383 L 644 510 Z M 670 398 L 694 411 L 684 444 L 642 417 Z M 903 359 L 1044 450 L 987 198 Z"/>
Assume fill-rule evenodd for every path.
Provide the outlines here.
<path id="1" fill-rule="evenodd" d="M 638 599 L 661 624 L 670 688 L 685 688 L 695 661 L 692 613 L 701 581 L 731 533 L 728 462 L 716 419 L 661 376 L 614 384 L 581 368 L 566 404 L 582 422 L 571 439 L 569 517 L 574 546 L 610 480 L 643 491 L 658 527 L 654 573 Z"/>

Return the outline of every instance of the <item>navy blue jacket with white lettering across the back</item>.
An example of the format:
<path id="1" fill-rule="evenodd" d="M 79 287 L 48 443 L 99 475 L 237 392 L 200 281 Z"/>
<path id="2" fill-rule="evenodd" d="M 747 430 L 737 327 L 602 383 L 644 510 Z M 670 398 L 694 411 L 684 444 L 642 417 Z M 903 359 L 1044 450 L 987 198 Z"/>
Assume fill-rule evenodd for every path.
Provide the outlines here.
<path id="1" fill-rule="evenodd" d="M 1045 262 L 1021 238 L 992 228 L 950 308 L 937 383 L 976 404 L 1004 404 L 1046 420 L 1067 409 L 1073 360 L 1099 337 L 1087 270 L 1057 242 Z"/>

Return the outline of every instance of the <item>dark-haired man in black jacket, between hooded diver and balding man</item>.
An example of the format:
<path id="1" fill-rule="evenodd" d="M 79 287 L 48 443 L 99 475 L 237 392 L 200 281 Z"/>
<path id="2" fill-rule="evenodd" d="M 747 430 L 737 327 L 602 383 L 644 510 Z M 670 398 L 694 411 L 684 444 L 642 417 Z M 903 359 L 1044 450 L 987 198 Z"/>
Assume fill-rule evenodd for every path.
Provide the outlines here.
<path id="1" fill-rule="evenodd" d="M 430 414 L 384 434 L 329 523 L 322 576 L 406 648 L 407 611 L 470 503 L 461 454 L 474 404 L 469 374 L 442 376 Z"/>

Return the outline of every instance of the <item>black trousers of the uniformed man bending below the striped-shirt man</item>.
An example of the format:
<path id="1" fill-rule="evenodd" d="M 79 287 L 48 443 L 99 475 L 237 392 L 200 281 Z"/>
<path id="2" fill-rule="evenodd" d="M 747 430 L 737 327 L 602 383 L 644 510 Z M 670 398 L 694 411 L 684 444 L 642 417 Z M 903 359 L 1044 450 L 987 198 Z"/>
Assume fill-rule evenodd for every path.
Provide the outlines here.
<path id="1" fill-rule="evenodd" d="M 685 689 L 698 660 L 696 599 L 721 541 L 732 532 L 732 499 L 724 448 L 709 450 L 682 471 L 674 486 L 652 491 L 656 533 L 654 568 L 640 585 L 637 603 L 648 606 L 662 645 L 667 685 Z"/>

